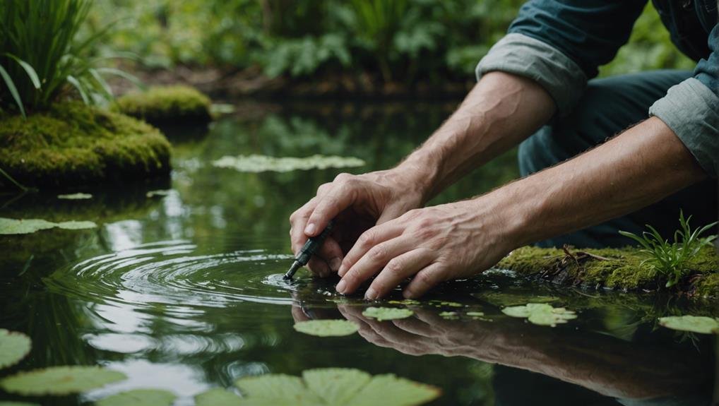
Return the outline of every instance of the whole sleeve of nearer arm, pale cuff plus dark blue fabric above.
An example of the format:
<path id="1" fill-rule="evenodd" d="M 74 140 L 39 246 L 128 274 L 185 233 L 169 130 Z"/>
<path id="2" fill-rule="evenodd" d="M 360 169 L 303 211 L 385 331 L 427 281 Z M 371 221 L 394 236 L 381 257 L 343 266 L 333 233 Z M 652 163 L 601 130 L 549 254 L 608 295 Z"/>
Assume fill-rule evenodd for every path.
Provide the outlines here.
<path id="1" fill-rule="evenodd" d="M 669 88 L 650 108 L 672 129 L 710 177 L 719 172 L 719 24 L 709 35 L 712 51 L 694 77 Z"/>

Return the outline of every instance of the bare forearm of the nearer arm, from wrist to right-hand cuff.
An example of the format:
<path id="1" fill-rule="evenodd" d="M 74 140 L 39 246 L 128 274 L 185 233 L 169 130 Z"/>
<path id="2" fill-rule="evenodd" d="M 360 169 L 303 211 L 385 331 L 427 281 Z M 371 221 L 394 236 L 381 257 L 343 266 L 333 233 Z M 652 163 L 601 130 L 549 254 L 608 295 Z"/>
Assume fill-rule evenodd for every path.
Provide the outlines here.
<path id="1" fill-rule="evenodd" d="M 651 118 L 479 199 L 503 207 L 508 232 L 520 246 L 649 206 L 705 176 L 674 132 Z"/>

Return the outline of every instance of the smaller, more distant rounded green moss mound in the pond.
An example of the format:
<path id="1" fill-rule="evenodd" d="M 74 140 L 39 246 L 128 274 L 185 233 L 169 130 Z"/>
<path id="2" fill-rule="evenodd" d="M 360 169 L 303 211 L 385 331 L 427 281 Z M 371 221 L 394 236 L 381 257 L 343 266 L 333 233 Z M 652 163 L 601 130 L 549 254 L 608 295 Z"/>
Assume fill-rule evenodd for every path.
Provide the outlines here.
<path id="1" fill-rule="evenodd" d="M 151 124 L 178 121 L 210 121 L 210 99 L 189 86 L 158 86 L 144 92 L 127 93 L 116 100 L 114 109 Z"/>

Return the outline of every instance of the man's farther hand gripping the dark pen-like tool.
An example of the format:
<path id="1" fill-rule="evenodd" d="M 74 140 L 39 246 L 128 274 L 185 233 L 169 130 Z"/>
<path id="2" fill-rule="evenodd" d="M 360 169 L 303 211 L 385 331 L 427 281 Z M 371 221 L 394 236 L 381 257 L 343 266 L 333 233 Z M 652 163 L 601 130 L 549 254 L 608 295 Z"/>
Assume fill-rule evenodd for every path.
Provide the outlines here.
<path id="1" fill-rule="evenodd" d="M 364 175 L 341 173 L 317 189 L 316 197 L 290 216 L 290 239 L 295 254 L 308 237 L 320 234 L 334 218 L 331 235 L 308 268 L 321 277 L 337 272 L 360 234 L 423 204 L 423 183 L 417 170 L 385 170 Z"/>

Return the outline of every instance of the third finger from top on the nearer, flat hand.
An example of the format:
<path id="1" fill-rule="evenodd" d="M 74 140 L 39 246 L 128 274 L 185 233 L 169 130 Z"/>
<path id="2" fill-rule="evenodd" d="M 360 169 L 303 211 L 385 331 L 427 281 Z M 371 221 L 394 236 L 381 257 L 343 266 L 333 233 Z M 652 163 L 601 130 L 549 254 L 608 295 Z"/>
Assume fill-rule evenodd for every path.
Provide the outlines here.
<path id="1" fill-rule="evenodd" d="M 375 300 L 387 295 L 400 282 L 429 265 L 435 254 L 429 249 L 414 249 L 390 259 L 365 292 L 365 298 Z"/>

